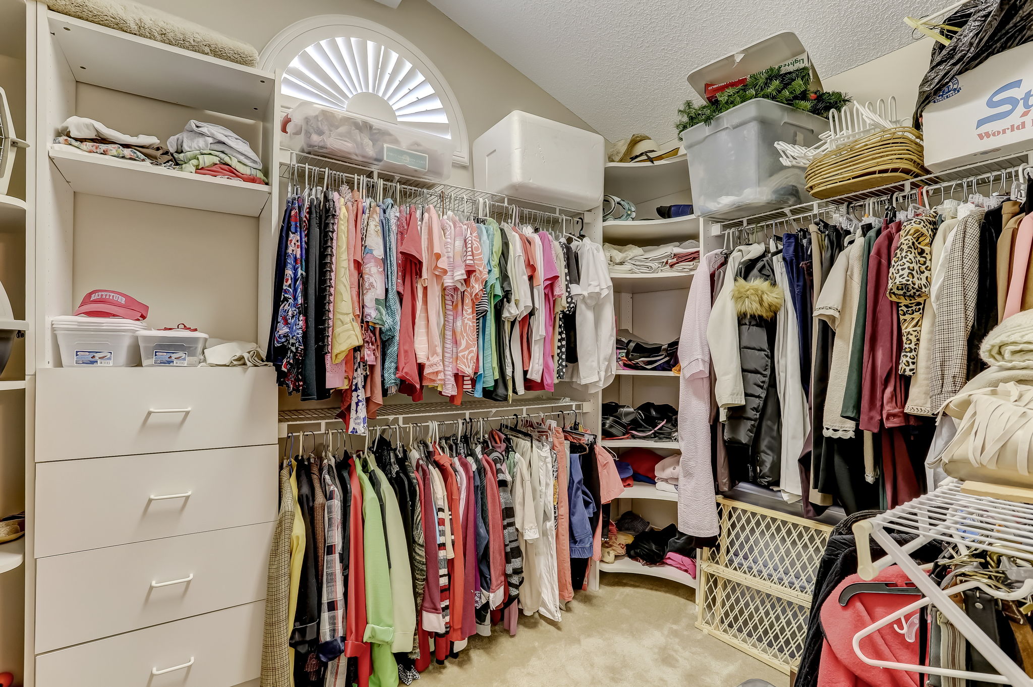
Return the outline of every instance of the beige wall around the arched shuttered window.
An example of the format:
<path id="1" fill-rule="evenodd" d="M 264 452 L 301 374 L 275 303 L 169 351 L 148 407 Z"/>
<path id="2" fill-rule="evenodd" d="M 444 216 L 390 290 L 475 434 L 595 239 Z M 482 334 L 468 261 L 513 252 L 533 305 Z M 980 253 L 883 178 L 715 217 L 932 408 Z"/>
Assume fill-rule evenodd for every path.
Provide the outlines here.
<path id="1" fill-rule="evenodd" d="M 140 0 L 254 45 L 308 17 L 349 14 L 377 22 L 418 48 L 441 70 L 466 119 L 470 143 L 513 110 L 592 128 L 478 42 L 426 0 L 392 9 L 372 0 Z M 501 27 L 500 27 L 501 28 Z M 542 56 L 542 59 L 549 59 Z M 456 166 L 449 183 L 473 185 L 472 167 Z"/>

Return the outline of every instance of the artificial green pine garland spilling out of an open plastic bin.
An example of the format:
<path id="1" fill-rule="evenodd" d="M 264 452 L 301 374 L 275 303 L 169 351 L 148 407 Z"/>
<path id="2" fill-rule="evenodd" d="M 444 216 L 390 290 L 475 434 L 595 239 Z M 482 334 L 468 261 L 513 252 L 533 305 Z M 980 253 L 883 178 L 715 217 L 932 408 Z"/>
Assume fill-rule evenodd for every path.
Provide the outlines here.
<path id="1" fill-rule="evenodd" d="M 758 71 L 747 76 L 742 86 L 718 93 L 714 102 L 697 105 L 686 100 L 678 111 L 678 132 L 696 124 L 710 124 L 721 113 L 754 98 L 774 100 L 820 117 L 827 117 L 831 111 L 850 102 L 850 96 L 839 91 L 810 91 L 810 67 L 786 72 L 781 72 L 779 67 Z"/>

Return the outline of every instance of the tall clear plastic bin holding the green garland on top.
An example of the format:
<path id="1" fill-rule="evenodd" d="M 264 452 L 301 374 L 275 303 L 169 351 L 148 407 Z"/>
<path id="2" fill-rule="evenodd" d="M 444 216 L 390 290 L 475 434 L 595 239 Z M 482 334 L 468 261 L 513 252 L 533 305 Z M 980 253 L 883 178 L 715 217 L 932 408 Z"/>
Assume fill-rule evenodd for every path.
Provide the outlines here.
<path id="1" fill-rule="evenodd" d="M 696 214 L 738 219 L 814 200 L 804 167 L 787 167 L 775 143 L 810 147 L 828 120 L 755 98 L 682 132 Z"/>

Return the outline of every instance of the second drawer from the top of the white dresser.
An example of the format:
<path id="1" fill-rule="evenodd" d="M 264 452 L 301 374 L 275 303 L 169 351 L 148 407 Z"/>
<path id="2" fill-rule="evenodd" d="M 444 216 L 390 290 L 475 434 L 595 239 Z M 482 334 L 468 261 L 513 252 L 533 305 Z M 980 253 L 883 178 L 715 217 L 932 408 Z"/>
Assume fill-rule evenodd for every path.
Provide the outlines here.
<path id="1" fill-rule="evenodd" d="M 268 523 L 276 466 L 275 445 L 40 463 L 35 556 Z"/>

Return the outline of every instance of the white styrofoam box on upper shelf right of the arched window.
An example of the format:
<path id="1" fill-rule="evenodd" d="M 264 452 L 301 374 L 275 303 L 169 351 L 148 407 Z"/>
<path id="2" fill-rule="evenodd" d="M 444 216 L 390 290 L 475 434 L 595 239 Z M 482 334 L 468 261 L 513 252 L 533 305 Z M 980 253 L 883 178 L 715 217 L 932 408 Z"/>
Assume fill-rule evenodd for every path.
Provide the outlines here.
<path id="1" fill-rule="evenodd" d="M 602 202 L 605 159 L 598 133 L 514 110 L 473 142 L 473 183 L 480 191 L 592 210 Z"/>

